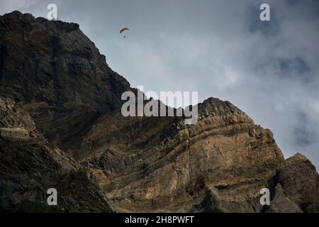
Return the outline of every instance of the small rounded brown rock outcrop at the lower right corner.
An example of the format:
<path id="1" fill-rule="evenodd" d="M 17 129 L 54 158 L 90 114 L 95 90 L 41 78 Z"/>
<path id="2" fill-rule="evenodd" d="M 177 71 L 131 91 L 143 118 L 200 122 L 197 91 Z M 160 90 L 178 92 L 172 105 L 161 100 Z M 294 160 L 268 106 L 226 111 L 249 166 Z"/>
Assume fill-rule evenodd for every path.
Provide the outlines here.
<path id="1" fill-rule="evenodd" d="M 270 206 L 269 211 L 319 211 L 318 173 L 305 156 L 297 153 L 289 157 L 277 168 L 273 179 L 276 206 Z"/>

